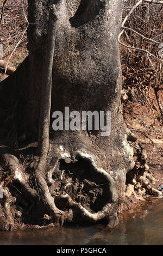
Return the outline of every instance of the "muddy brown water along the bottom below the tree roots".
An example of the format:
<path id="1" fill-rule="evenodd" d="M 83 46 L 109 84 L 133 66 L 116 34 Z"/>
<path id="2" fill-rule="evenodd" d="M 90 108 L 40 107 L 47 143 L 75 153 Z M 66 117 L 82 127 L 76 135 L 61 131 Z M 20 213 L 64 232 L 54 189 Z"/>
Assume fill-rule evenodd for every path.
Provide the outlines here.
<path id="1" fill-rule="evenodd" d="M 163 245 L 163 199 L 130 210 L 113 231 L 103 226 L 0 231 L 0 245 Z"/>

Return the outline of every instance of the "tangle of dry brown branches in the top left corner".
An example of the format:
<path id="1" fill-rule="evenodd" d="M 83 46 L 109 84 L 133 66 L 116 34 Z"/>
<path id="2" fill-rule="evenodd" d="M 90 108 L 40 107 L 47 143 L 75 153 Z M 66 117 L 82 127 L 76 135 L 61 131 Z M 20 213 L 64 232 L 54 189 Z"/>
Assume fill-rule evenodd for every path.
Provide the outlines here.
<path id="1" fill-rule="evenodd" d="M 3 7 L 4 2 L 4 0 L 0 0 L 0 19 L 2 17 L 0 24 L 0 44 L 3 45 L 4 57 L 9 57 L 27 27 L 24 17 L 24 12 L 27 13 L 27 0 L 7 0 Z M 11 58 L 15 66 L 20 64 L 27 56 L 26 47 L 27 33 L 24 34 Z"/>

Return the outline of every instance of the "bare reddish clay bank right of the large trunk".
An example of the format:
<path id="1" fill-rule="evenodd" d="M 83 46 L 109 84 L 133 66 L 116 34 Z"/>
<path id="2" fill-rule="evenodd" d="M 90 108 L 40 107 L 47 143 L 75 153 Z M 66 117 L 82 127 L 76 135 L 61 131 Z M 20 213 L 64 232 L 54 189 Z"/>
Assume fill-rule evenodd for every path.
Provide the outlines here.
<path id="1" fill-rule="evenodd" d="M 163 92 L 159 92 L 160 101 L 163 99 Z M 131 142 L 136 145 L 139 142 L 145 147 L 148 158 L 149 172 L 155 178 L 153 187 L 158 189 L 163 185 L 163 126 L 160 118 L 158 103 L 155 99 L 154 90 L 151 89 L 150 96 L 147 100 L 127 101 L 123 104 L 123 117 L 127 127 L 137 137 L 136 142 Z M 153 197 L 145 195 L 143 198 L 151 202 Z M 137 203 L 144 203 L 131 195 L 126 197 L 126 202 L 123 206 L 123 211 L 137 207 Z"/>

